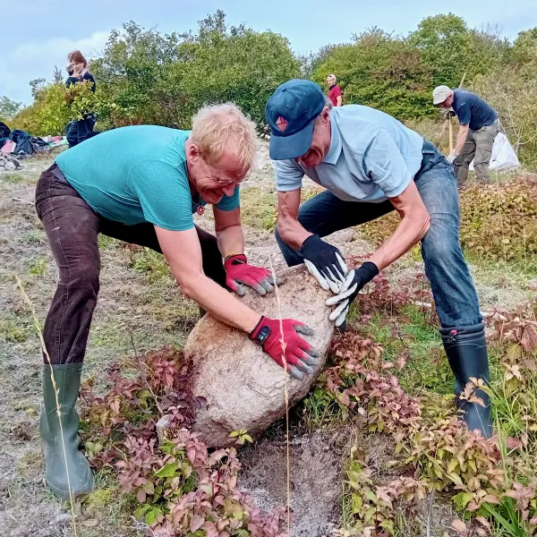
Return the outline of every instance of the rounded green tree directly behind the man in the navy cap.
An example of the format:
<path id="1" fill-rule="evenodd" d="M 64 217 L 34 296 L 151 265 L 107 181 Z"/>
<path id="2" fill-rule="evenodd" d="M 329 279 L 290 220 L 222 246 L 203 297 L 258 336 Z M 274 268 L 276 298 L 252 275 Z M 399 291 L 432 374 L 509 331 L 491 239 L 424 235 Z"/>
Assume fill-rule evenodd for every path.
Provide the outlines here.
<path id="1" fill-rule="evenodd" d="M 422 54 L 404 38 L 372 28 L 354 43 L 329 47 L 312 79 L 324 87 L 334 72 L 345 104 L 379 108 L 398 119 L 434 115 L 430 103 L 430 69 Z"/>

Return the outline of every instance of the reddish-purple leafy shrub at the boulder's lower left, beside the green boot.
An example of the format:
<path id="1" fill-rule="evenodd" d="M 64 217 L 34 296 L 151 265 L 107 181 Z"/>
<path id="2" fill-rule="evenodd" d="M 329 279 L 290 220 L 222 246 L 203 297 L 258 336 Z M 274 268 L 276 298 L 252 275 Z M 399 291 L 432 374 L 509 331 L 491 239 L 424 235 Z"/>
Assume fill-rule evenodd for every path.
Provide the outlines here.
<path id="1" fill-rule="evenodd" d="M 284 509 L 262 515 L 238 490 L 235 449 L 209 455 L 188 430 L 205 401 L 184 391 L 187 371 L 183 356 L 168 348 L 113 368 L 103 397 L 86 384 L 82 428 L 90 463 L 117 474 L 122 493 L 138 502 L 135 516 L 153 535 L 286 537 Z M 165 415 L 159 439 L 157 422 Z"/>

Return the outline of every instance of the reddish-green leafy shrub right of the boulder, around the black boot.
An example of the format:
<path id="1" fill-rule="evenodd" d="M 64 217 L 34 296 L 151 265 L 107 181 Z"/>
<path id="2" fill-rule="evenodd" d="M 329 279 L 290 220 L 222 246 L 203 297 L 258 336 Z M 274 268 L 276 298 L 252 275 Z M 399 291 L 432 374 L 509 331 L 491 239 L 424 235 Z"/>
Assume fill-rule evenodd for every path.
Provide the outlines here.
<path id="1" fill-rule="evenodd" d="M 385 311 L 390 324 L 390 293 L 388 285 L 384 291 L 382 287 L 378 294 L 373 289 L 364 296 L 369 295 L 373 308 L 378 301 L 378 311 Z M 401 305 L 412 300 L 408 291 L 399 291 L 396 296 Z M 398 306 L 391 315 L 397 315 L 397 310 Z M 394 362 L 387 362 L 382 347 L 363 334 L 351 330 L 335 339 L 332 351 L 336 364 L 318 381 L 318 405 L 335 403 L 360 429 L 393 435 L 396 451 L 405 457 L 399 464 L 413 473 L 409 482 L 403 477 L 386 487 L 375 487 L 364 463 L 351 457 L 345 483 L 348 516 L 341 535 L 396 534 L 397 510 L 412 512 L 422 503 L 425 490 L 452 495 L 463 518 L 453 523 L 458 535 L 484 536 L 493 528 L 520 537 L 536 534 L 536 315 L 537 304 L 530 303 L 489 318 L 493 328 L 490 339 L 495 352 L 503 356 L 502 392 L 474 379 L 462 394 L 462 398 L 479 405 L 482 400 L 475 396 L 476 388 L 490 392 L 499 428 L 498 439 L 492 440 L 482 439 L 462 426 L 455 418 L 455 405 L 447 409 L 445 397 L 418 399 L 405 394 L 396 379 L 396 371 L 412 360 L 405 350 Z M 400 315 L 397 320 L 405 322 Z M 320 391 L 331 401 L 323 399 Z M 400 490 L 407 496 L 400 495 Z M 401 499 L 405 500 L 403 504 Z"/>

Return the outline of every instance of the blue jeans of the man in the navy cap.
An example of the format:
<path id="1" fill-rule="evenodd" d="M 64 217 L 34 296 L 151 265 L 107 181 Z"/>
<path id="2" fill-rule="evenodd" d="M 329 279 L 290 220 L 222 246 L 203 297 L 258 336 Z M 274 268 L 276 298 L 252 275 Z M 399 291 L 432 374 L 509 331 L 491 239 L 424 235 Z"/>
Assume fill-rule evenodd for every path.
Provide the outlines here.
<path id="1" fill-rule="evenodd" d="M 423 147 L 422 168 L 414 183 L 430 214 L 430 228 L 422 239 L 422 258 L 430 280 L 443 328 L 462 328 L 482 321 L 472 277 L 459 243 L 459 200 L 456 176 L 446 158 L 429 142 Z M 298 221 L 321 237 L 346 227 L 359 226 L 394 210 L 389 200 L 380 203 L 339 200 L 321 192 L 299 209 Z M 303 255 L 284 243 L 276 230 L 277 243 L 289 267 L 303 262 Z"/>

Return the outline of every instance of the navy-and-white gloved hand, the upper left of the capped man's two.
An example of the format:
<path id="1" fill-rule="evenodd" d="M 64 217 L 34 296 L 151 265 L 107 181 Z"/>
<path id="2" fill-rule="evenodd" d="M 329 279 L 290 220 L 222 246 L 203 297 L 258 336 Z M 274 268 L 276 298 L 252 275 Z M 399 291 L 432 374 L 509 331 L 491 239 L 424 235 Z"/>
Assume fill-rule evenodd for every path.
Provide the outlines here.
<path id="1" fill-rule="evenodd" d="M 320 240 L 319 235 L 310 235 L 301 248 L 306 268 L 320 284 L 332 293 L 338 293 L 349 269 L 341 252 L 335 246 Z"/>

